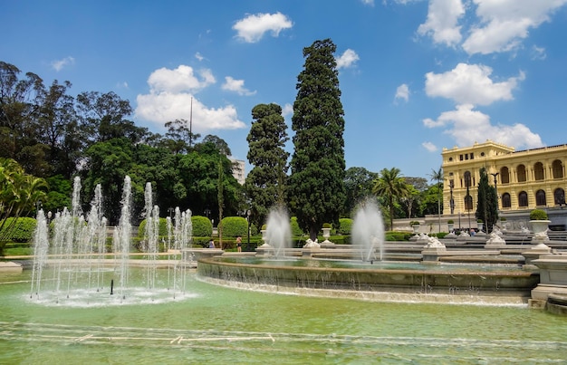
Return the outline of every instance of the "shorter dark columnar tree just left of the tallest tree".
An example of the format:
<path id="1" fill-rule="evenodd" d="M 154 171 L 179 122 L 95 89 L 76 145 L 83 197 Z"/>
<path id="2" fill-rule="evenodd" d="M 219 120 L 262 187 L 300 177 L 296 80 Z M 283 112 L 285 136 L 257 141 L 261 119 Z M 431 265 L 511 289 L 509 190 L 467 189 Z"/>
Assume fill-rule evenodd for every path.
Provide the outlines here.
<path id="1" fill-rule="evenodd" d="M 277 104 L 258 104 L 252 109 L 252 126 L 246 137 L 248 162 L 253 166 L 246 176 L 246 196 L 251 205 L 251 220 L 262 226 L 269 209 L 287 201 L 288 140 L 282 108 Z"/>

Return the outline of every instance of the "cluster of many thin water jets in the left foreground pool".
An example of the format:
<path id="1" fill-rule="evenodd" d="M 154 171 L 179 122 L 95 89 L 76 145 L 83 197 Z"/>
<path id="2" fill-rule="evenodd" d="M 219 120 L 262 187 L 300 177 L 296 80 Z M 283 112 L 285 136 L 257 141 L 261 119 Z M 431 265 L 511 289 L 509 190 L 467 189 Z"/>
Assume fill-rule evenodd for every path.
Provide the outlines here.
<path id="1" fill-rule="evenodd" d="M 45 305 L 108 306 L 124 303 L 164 303 L 187 297 L 187 264 L 178 258 L 159 258 L 159 207 L 152 204 L 151 185 L 146 185 L 146 206 L 143 215 L 147 225 L 144 235 L 143 273 L 130 273 L 135 260 L 130 258 L 132 242 L 131 181 L 124 178 L 119 226 L 112 237 L 112 253 L 107 254 L 106 218 L 102 215 L 101 186 L 95 188 L 91 210 L 85 220 L 80 208 L 81 180 L 75 178 L 72 211 L 66 208 L 53 219 L 53 239 L 40 210 L 34 235 L 34 265 L 30 300 Z M 190 211 L 176 209 L 175 236 L 172 252 L 179 253 L 191 238 Z M 187 223 L 188 221 L 188 223 Z M 170 222 L 169 222 L 170 226 Z M 159 266 L 168 267 L 165 287 L 159 287 Z M 173 275 L 170 271 L 173 271 Z M 163 280 L 161 281 L 163 283 Z"/>

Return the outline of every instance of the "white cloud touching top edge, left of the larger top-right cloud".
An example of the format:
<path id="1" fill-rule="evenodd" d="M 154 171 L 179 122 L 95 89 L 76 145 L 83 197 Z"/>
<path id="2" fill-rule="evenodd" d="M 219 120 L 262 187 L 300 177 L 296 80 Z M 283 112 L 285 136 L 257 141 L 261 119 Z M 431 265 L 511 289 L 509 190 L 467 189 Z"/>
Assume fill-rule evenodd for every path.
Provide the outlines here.
<path id="1" fill-rule="evenodd" d="M 435 43 L 449 46 L 461 42 L 461 27 L 458 20 L 465 14 L 461 0 L 431 0 L 426 23 L 419 25 L 418 34 L 431 34 Z"/>

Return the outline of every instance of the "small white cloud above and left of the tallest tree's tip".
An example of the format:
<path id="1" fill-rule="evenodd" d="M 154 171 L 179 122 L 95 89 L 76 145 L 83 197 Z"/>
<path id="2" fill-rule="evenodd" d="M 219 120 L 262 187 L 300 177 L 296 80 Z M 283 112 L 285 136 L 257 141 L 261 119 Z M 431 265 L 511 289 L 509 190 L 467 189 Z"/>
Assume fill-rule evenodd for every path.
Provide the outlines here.
<path id="1" fill-rule="evenodd" d="M 235 23 L 233 29 L 236 37 L 243 39 L 247 43 L 260 41 L 264 33 L 271 32 L 277 37 L 284 29 L 289 29 L 293 23 L 282 13 L 275 14 L 252 14 L 246 16 Z"/>

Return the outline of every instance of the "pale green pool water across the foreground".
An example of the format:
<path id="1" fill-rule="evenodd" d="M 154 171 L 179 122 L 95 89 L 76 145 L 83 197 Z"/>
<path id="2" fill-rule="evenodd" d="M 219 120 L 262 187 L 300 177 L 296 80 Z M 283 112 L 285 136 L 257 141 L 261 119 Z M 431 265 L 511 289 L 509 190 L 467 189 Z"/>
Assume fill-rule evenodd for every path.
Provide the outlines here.
<path id="1" fill-rule="evenodd" d="M 46 307 L 30 275 L 0 274 L 0 363 L 567 362 L 567 318 L 525 307 L 255 293 L 195 274 L 183 301 Z"/>

